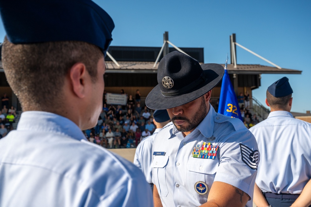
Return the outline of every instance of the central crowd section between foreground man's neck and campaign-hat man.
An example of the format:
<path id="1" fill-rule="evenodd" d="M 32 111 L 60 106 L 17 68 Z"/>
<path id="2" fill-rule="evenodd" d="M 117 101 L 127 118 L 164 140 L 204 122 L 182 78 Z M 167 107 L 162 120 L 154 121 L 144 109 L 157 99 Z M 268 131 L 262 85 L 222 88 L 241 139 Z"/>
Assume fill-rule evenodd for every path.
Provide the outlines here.
<path id="1" fill-rule="evenodd" d="M 140 106 L 130 95 L 127 105 L 107 105 L 104 101 L 97 125 L 84 132 L 86 138 L 106 148 L 133 148 L 155 130 L 153 110 Z"/>

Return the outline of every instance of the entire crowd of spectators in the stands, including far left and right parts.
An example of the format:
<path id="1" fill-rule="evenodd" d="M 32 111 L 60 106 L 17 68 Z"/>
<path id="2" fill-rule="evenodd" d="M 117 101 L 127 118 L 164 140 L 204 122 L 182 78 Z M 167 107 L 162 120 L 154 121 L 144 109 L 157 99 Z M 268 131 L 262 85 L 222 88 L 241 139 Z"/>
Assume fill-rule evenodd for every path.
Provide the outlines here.
<path id="1" fill-rule="evenodd" d="M 155 130 L 153 110 L 147 106 L 142 109 L 138 94 L 137 90 L 135 100 L 129 95 L 126 106 L 107 105 L 105 100 L 97 125 L 83 131 L 86 138 L 106 148 L 137 147 L 143 138 L 150 136 Z M 256 114 L 252 115 L 244 104 L 240 110 L 244 125 L 248 129 L 259 123 Z M 0 111 L 0 138 L 13 129 L 12 123 L 15 123 L 15 118 L 16 109 L 13 106 L 8 109 L 4 105 Z"/>

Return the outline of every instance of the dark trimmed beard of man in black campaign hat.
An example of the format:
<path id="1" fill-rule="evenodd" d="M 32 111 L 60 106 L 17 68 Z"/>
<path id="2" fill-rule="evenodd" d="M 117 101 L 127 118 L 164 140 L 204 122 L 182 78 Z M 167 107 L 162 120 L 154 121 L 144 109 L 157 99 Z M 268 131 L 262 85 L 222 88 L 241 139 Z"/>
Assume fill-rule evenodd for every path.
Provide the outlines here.
<path id="1" fill-rule="evenodd" d="M 173 124 L 175 125 L 178 131 L 189 132 L 192 129 L 195 129 L 201 123 L 201 121 L 205 118 L 207 114 L 207 107 L 205 104 L 204 97 L 201 97 L 201 98 L 202 98 L 202 101 L 201 101 L 200 107 L 198 108 L 198 111 L 196 111 L 196 113 L 190 119 L 187 119 L 186 117 L 182 117 L 182 116 L 174 116 L 171 119 L 171 121 L 173 122 Z M 175 120 L 186 121 L 188 125 L 186 126 L 176 125 Z"/>

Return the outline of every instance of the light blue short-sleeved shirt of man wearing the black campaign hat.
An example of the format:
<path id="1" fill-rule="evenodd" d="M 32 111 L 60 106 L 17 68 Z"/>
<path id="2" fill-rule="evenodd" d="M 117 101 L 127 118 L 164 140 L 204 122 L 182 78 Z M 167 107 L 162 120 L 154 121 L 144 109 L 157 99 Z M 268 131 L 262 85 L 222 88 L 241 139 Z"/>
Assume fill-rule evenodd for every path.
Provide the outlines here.
<path id="1" fill-rule="evenodd" d="M 212 150 L 216 151 L 214 157 L 203 158 L 202 147 L 206 143 L 216 149 Z M 165 155 L 153 155 L 152 181 L 164 207 L 206 203 L 214 181 L 233 185 L 252 198 L 259 159 L 257 150 L 254 136 L 241 120 L 218 114 L 210 105 L 204 120 L 186 137 L 172 123 L 157 134 L 153 154 Z M 201 153 L 202 158 L 193 157 L 194 151 Z M 207 184 L 206 194 L 196 191 L 198 181 Z M 251 200 L 247 206 L 252 206 Z"/>

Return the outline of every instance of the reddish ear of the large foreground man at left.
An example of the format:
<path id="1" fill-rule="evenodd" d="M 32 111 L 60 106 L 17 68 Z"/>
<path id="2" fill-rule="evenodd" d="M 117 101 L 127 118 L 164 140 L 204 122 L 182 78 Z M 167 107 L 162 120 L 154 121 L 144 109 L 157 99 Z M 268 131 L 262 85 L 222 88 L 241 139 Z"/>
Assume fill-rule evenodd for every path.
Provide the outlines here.
<path id="1" fill-rule="evenodd" d="M 74 64 L 69 70 L 69 78 L 73 92 L 79 97 L 85 97 L 86 67 L 83 63 Z"/>

